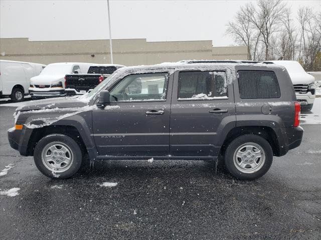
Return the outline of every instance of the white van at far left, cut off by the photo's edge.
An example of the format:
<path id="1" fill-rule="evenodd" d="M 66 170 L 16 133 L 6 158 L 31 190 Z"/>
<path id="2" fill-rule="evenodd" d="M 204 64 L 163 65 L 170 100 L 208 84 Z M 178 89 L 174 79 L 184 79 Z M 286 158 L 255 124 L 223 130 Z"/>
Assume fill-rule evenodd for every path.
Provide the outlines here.
<path id="1" fill-rule="evenodd" d="M 30 78 L 37 76 L 46 65 L 24 61 L 0 60 L 0 97 L 22 101 L 28 94 Z"/>

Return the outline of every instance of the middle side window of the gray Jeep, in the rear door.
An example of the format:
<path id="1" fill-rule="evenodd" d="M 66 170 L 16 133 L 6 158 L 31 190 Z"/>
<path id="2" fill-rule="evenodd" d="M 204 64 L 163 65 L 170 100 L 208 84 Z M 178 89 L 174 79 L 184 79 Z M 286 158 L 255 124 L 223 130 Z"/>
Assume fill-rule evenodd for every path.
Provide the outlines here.
<path id="1" fill-rule="evenodd" d="M 225 72 L 182 71 L 179 73 L 179 100 L 227 98 Z"/>

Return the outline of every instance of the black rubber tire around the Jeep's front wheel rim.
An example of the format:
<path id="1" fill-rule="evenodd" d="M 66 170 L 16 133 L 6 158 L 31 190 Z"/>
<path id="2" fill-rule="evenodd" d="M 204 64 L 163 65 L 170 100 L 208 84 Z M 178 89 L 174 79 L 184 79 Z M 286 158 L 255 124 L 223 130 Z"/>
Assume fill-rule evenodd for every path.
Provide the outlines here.
<path id="1" fill-rule="evenodd" d="M 54 144 L 55 142 L 61 142 L 62 144 L 66 145 L 71 151 L 73 160 L 68 165 L 69 168 L 64 171 L 56 171 L 54 170 L 54 168 L 50 170 L 42 160 L 42 154 L 43 154 L 44 148 L 47 147 L 50 143 Z M 44 136 L 37 143 L 34 151 L 34 160 L 37 168 L 44 175 L 55 179 L 57 178 L 65 179 L 73 176 L 79 170 L 79 168 L 82 165 L 83 155 L 78 143 L 73 138 L 64 134 L 53 133 L 53 134 Z"/>

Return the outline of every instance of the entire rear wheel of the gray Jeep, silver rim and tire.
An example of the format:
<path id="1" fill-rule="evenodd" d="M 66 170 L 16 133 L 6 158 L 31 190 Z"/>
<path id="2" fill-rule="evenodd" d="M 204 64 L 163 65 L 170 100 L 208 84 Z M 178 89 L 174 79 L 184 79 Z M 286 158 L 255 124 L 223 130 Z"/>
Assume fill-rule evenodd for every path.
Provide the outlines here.
<path id="1" fill-rule="evenodd" d="M 263 176 L 273 160 L 271 145 L 263 137 L 245 134 L 235 138 L 225 151 L 225 166 L 236 178 L 254 180 Z"/>

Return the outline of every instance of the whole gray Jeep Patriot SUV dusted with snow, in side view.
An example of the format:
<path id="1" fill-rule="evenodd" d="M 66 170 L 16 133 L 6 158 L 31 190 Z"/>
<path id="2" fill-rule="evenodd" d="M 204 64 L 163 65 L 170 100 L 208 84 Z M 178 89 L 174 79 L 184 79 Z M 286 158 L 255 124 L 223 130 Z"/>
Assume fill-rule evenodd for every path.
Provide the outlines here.
<path id="1" fill-rule="evenodd" d="M 300 105 L 282 66 L 183 61 L 123 67 L 80 97 L 19 107 L 10 145 L 52 178 L 102 159 L 223 156 L 229 172 L 255 179 L 301 143 Z"/>

